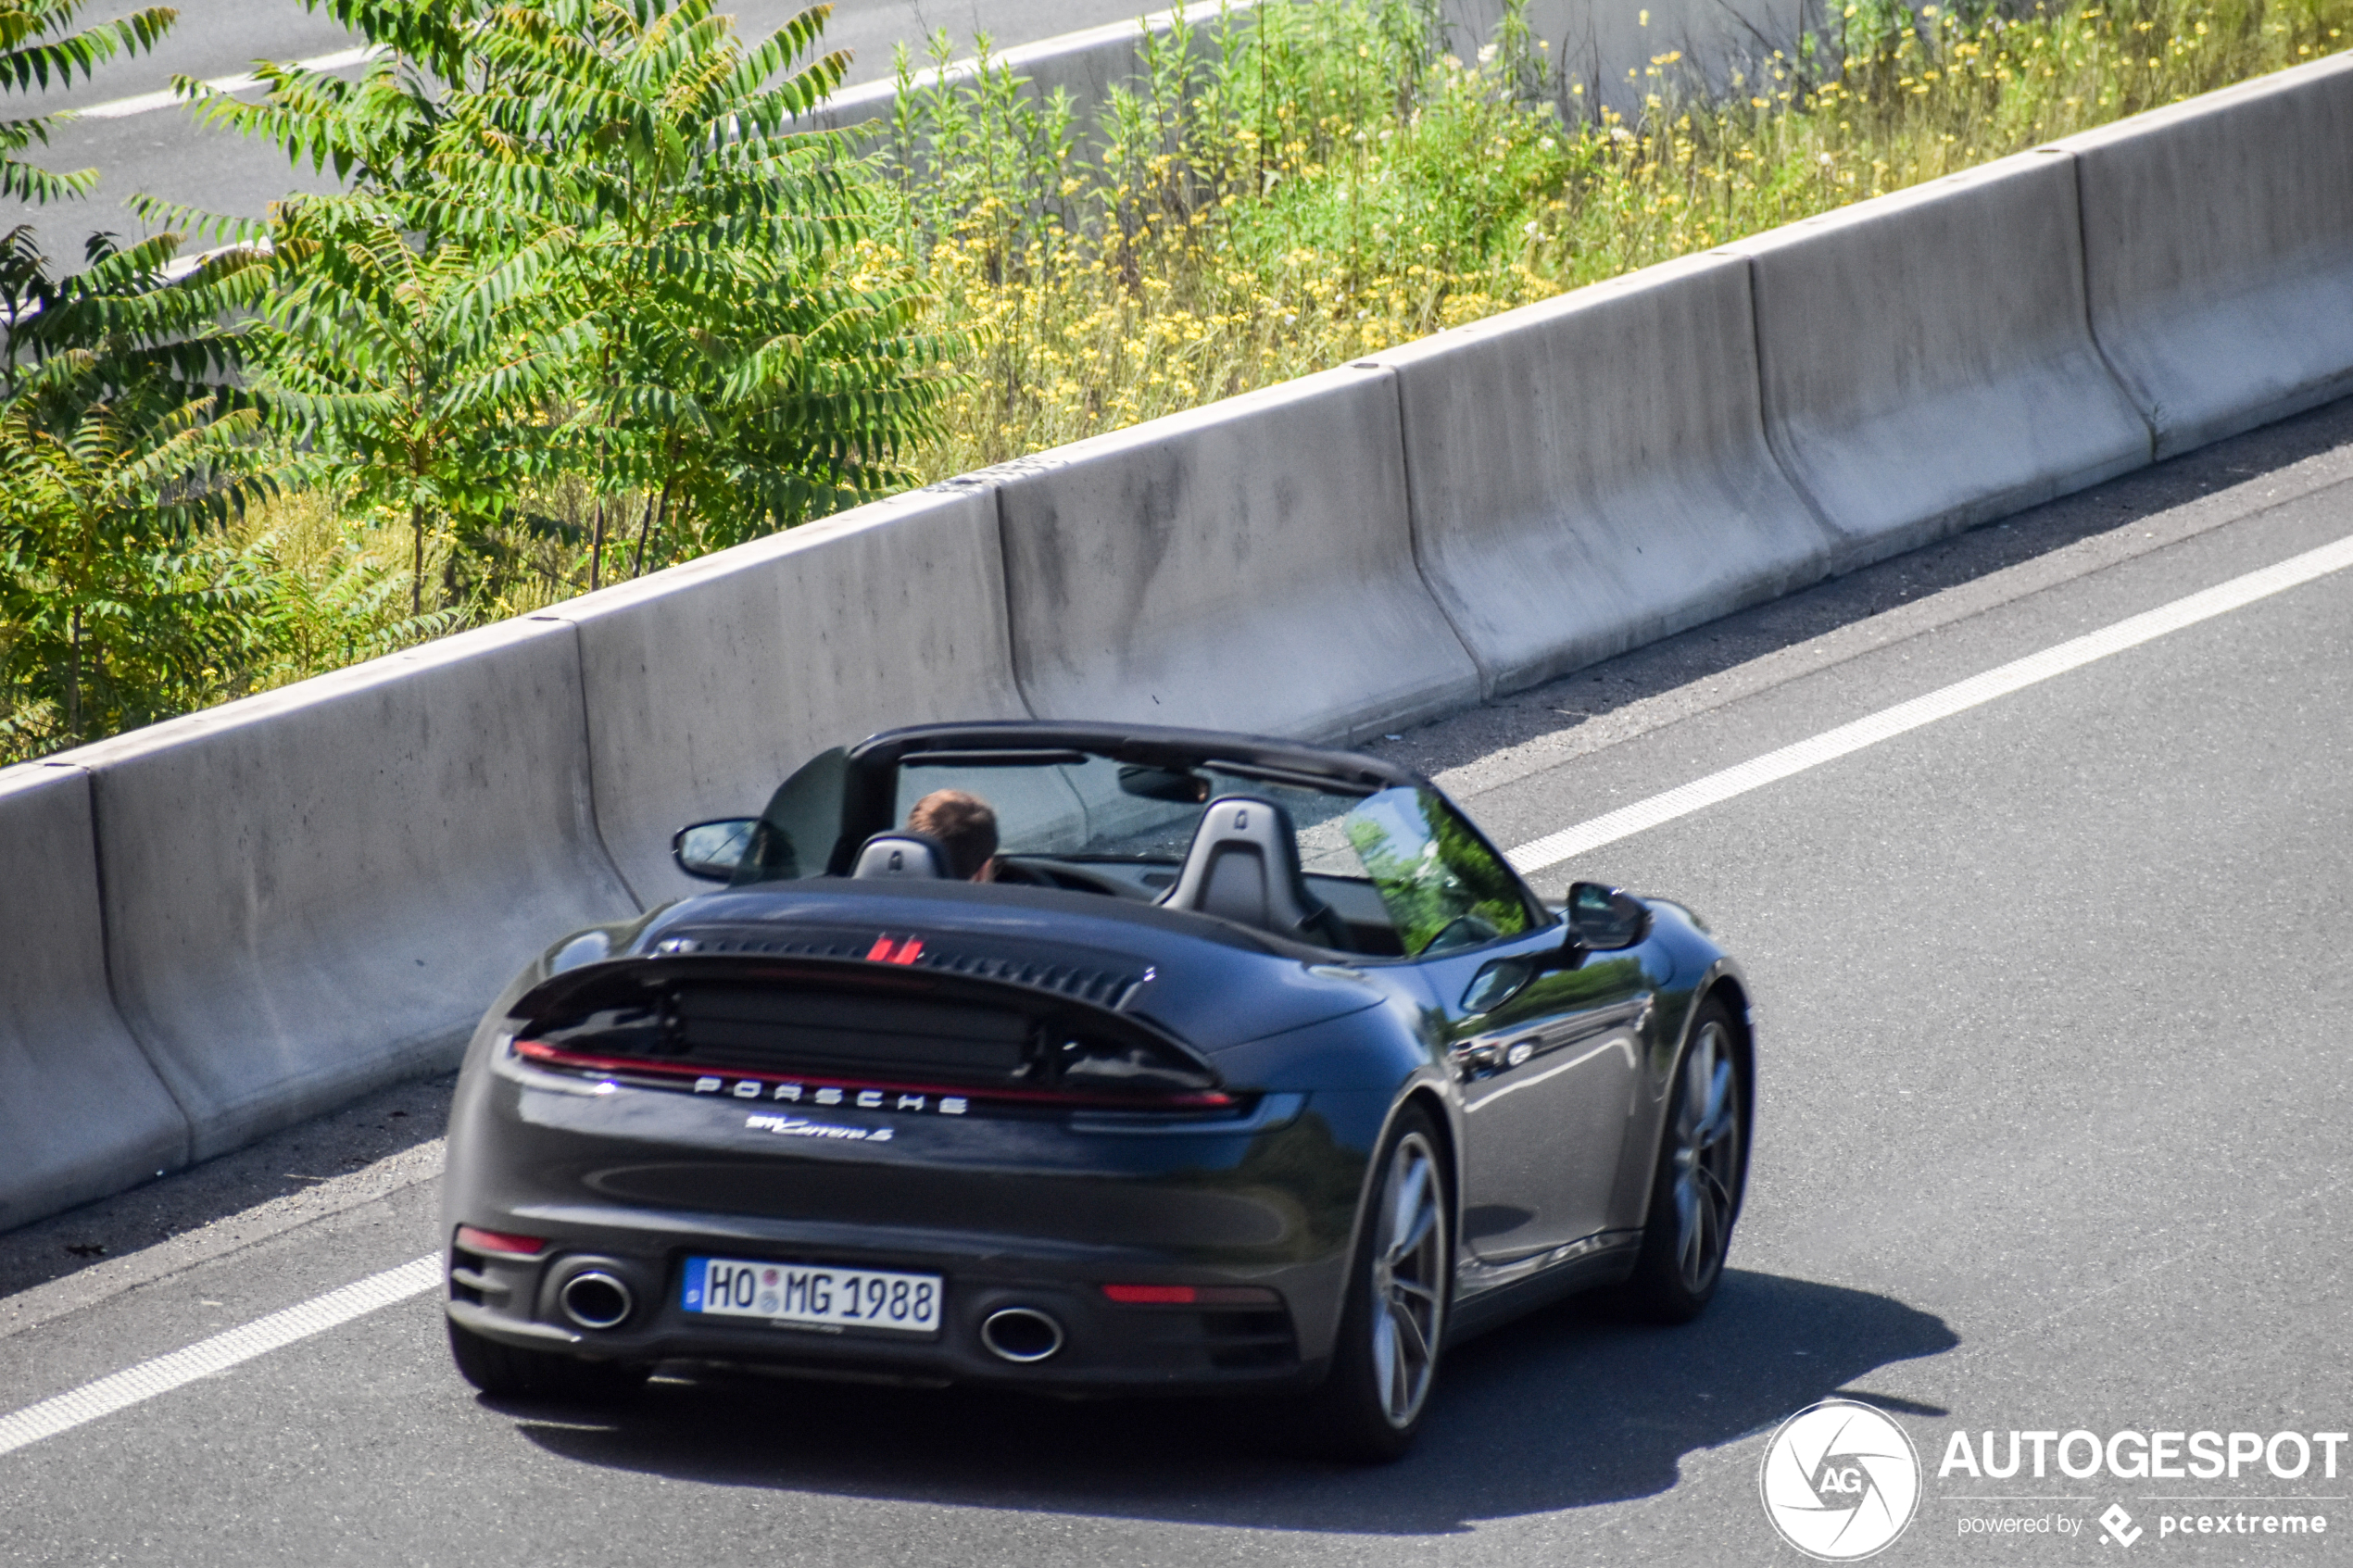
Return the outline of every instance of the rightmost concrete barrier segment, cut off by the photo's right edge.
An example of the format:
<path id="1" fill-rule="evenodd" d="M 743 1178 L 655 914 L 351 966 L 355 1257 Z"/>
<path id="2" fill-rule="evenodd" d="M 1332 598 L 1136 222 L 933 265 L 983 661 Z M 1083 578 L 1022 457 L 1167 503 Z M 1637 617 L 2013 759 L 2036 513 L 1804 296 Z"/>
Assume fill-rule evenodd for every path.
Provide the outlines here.
<path id="1" fill-rule="evenodd" d="M 2353 54 L 2057 146 L 2092 336 L 2158 456 L 2353 390 Z"/>

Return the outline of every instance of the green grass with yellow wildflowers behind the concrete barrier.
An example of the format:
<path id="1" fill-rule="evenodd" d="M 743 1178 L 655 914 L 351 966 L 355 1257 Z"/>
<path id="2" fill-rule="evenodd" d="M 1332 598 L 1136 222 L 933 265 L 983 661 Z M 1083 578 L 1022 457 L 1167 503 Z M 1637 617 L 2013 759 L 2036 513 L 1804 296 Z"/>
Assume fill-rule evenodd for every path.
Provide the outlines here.
<path id="1" fill-rule="evenodd" d="M 1664 54 L 1633 118 L 1574 113 L 1577 89 L 1562 118 L 1511 16 L 1464 56 L 1409 5 L 1268 5 L 1158 49 L 1094 136 L 1002 68 L 904 94 L 911 172 L 871 261 L 986 343 L 936 480 L 2292 66 L 2346 26 L 2353 0 L 1878 0 L 1729 92 Z"/>

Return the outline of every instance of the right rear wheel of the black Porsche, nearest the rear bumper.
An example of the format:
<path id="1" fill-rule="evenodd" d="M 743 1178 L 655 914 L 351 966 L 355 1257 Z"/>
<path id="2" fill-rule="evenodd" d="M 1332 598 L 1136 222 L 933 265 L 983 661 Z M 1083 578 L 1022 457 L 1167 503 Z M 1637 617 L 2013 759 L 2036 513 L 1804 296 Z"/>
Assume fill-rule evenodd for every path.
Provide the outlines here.
<path id="1" fill-rule="evenodd" d="M 1360 1465 L 1398 1460 L 1431 1408 L 1454 1288 L 1454 1227 L 1438 1147 L 1421 1110 L 1405 1110 L 1381 1140 L 1332 1373 L 1299 1410 L 1301 1436 L 1320 1455 Z"/>

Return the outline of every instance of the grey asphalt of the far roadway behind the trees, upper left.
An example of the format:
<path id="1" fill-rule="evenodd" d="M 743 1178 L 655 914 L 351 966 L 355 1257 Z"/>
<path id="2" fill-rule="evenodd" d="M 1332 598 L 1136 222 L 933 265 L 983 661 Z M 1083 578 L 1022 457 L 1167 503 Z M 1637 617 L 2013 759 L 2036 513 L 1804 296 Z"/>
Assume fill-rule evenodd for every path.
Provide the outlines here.
<path id="1" fill-rule="evenodd" d="M 162 92 L 174 75 L 216 82 L 245 75 L 256 59 L 315 61 L 365 42 L 322 12 L 304 9 L 299 0 L 172 2 L 179 7 L 179 24 L 153 54 L 115 56 L 94 80 L 75 80 L 64 92 L 9 92 L 0 96 L 0 113 L 16 118 L 89 110 Z M 85 19 L 99 21 L 132 9 L 134 0 L 99 0 Z M 741 0 L 720 9 L 734 12 L 746 38 L 765 38 L 800 12 L 802 2 Z M 906 42 L 920 61 L 927 40 L 941 28 L 962 56 L 972 52 L 976 33 L 988 33 L 1002 49 L 1127 21 L 1151 9 L 1162 9 L 1160 0 L 835 0 L 826 47 L 852 52 L 847 85 L 856 85 L 889 78 L 892 47 L 899 42 Z M 82 237 L 94 230 L 125 237 L 148 233 L 148 226 L 125 207 L 132 195 L 256 219 L 292 190 L 320 190 L 332 183 L 322 183 L 308 167 L 289 169 L 278 148 L 195 127 L 179 106 L 68 122 L 52 132 L 47 148 L 35 146 L 26 158 L 54 172 L 99 169 L 104 176 L 99 190 L 82 202 L 42 209 L 0 202 L 0 230 L 33 223 L 61 263 L 78 261 Z"/>

